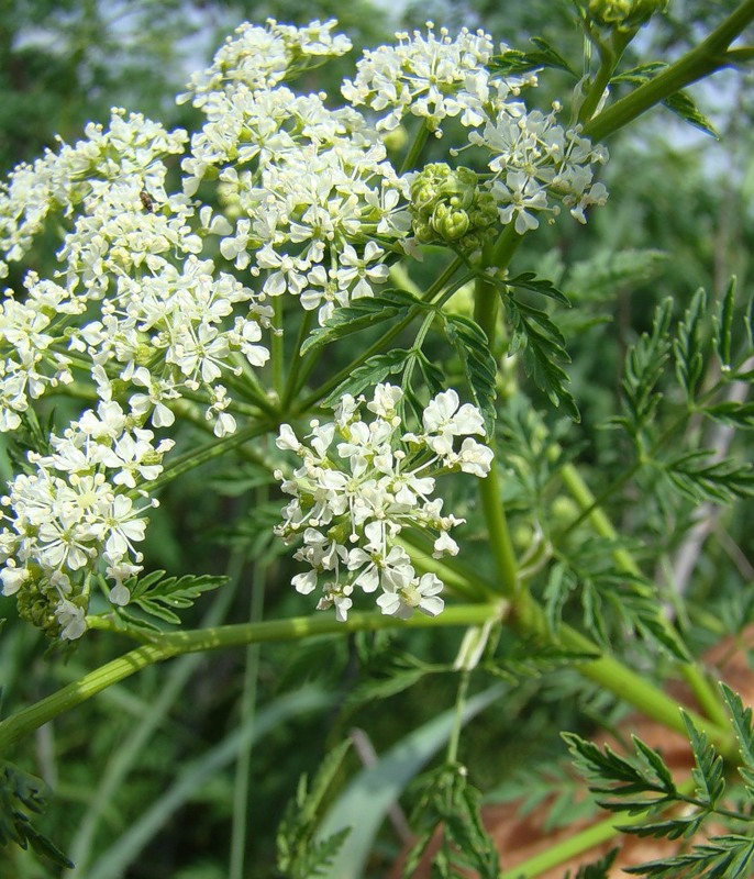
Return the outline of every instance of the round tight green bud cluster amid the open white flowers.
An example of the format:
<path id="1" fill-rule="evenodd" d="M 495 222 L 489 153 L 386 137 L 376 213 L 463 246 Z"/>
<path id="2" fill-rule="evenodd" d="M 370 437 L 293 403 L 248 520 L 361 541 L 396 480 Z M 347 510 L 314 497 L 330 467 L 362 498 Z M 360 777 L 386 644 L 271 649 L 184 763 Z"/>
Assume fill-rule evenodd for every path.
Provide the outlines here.
<path id="1" fill-rule="evenodd" d="M 470 253 L 495 235 L 498 211 L 491 192 L 470 168 L 433 163 L 411 183 L 411 223 L 422 244 L 452 244 Z"/>

